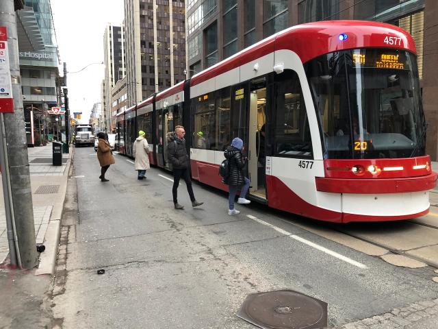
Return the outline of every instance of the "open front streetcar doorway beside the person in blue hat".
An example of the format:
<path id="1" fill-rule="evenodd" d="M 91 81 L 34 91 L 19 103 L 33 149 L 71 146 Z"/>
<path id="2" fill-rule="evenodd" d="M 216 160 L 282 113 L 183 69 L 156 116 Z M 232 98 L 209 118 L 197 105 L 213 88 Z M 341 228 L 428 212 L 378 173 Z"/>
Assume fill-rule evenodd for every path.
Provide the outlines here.
<path id="1" fill-rule="evenodd" d="M 250 82 L 248 173 L 250 195 L 266 199 L 265 178 L 266 77 Z"/>

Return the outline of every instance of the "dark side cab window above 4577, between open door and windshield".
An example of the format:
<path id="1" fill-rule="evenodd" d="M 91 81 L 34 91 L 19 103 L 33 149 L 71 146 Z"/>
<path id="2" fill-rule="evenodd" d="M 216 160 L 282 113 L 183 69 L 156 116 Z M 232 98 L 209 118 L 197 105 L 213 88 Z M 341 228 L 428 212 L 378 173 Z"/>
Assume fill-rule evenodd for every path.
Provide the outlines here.
<path id="1" fill-rule="evenodd" d="M 309 121 L 296 72 L 276 77 L 274 143 L 276 156 L 313 158 Z"/>

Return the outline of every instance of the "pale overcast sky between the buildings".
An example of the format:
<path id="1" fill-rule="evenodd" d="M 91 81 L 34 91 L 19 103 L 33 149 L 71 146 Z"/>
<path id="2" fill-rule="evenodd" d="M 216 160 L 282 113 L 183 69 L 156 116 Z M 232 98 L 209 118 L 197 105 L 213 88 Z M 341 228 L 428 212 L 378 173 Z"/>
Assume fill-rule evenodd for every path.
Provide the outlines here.
<path id="1" fill-rule="evenodd" d="M 94 103 L 101 102 L 103 34 L 107 23 L 121 25 L 123 0 L 51 0 L 53 22 L 61 62 L 67 64 L 70 115 L 82 112 L 81 123 L 88 123 Z M 62 75 L 62 64 L 60 74 Z M 79 73 L 73 73 L 83 69 Z"/>

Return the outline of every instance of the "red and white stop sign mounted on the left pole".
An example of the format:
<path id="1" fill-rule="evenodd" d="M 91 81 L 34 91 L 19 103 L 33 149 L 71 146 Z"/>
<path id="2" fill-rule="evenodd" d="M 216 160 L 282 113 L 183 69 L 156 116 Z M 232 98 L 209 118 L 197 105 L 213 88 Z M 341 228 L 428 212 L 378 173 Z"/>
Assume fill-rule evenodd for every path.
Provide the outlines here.
<path id="1" fill-rule="evenodd" d="M 9 66 L 8 35 L 6 27 L 0 26 L 0 112 L 14 112 L 11 71 Z"/>

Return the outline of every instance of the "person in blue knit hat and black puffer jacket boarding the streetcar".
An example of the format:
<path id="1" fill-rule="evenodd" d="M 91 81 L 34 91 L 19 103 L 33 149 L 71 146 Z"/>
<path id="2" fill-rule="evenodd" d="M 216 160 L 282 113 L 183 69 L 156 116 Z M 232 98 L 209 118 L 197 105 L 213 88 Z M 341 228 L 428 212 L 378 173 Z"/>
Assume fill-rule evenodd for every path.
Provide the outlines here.
<path id="1" fill-rule="evenodd" d="M 240 189 L 240 197 L 237 199 L 237 204 L 249 204 L 250 201 L 245 199 L 246 193 L 248 193 L 249 180 L 244 175 L 244 167 L 246 165 L 246 159 L 242 156 L 242 147 L 244 142 L 242 139 L 236 137 L 231 142 L 231 146 L 227 147 L 224 152 L 225 158 L 229 161 L 229 176 L 224 182 L 229 185 L 229 210 L 228 215 L 237 215 L 239 210 L 234 208 L 234 199 L 237 193 L 237 189 Z"/>

